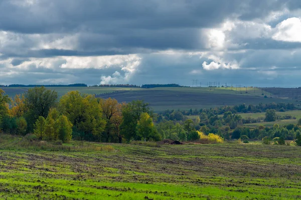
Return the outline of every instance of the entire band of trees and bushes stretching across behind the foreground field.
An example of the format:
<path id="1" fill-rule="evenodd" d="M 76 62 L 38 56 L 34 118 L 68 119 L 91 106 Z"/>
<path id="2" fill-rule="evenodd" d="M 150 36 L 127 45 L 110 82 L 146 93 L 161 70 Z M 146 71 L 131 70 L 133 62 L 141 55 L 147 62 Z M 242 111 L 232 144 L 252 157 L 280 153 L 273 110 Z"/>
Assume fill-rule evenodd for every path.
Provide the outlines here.
<path id="1" fill-rule="evenodd" d="M 260 105 L 262 109 L 269 106 Z M 287 109 L 290 105 L 279 106 Z M 236 111 L 239 107 L 243 109 L 241 105 L 226 108 Z M 33 133 L 41 140 L 63 142 L 71 139 L 116 143 L 163 139 L 220 142 L 241 137 L 300 140 L 301 120 L 298 124 L 249 128 L 243 125 L 238 113 L 226 111 L 222 116 L 217 115 L 223 110 L 220 108 L 201 109 L 202 112 L 190 118 L 180 110 L 154 113 L 140 100 L 119 103 L 79 91 L 70 91 L 58 99 L 56 91 L 35 87 L 11 99 L 0 90 L 0 130 L 8 134 Z M 265 121 L 274 121 L 275 111 L 266 110 Z"/>

